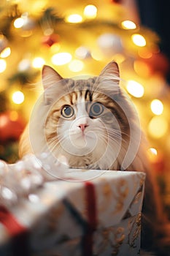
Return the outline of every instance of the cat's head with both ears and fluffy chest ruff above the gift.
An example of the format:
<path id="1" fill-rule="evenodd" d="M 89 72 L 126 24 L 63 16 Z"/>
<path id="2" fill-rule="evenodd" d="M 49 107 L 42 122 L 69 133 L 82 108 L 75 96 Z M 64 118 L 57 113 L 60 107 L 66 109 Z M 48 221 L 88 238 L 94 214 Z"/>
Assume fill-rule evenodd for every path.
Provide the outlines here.
<path id="1" fill-rule="evenodd" d="M 47 112 L 42 124 L 43 146 L 55 157 L 65 155 L 70 167 L 118 170 L 134 130 L 134 110 L 125 99 L 119 80 L 115 62 L 108 64 L 98 77 L 81 80 L 63 79 L 45 66 L 41 108 L 47 108 Z M 131 138 L 133 154 L 127 155 L 127 161 L 134 158 L 138 148 L 135 136 Z"/>

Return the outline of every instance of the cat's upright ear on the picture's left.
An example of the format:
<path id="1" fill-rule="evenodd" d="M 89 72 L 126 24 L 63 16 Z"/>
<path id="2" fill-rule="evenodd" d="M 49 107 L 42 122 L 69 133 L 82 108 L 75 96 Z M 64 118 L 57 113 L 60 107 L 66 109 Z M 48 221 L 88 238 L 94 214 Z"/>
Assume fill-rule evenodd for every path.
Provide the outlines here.
<path id="1" fill-rule="evenodd" d="M 54 86 L 55 83 L 59 82 L 63 78 L 58 74 L 52 67 L 45 65 L 42 68 L 42 84 L 44 89 Z"/>

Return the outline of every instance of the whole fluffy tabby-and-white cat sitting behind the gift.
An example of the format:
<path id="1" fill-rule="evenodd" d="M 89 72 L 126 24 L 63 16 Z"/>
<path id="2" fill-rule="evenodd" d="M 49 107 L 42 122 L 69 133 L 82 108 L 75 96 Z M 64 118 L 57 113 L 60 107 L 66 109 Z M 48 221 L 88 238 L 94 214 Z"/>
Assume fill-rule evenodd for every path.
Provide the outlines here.
<path id="1" fill-rule="evenodd" d="M 71 168 L 145 172 L 142 248 L 169 255 L 170 234 L 147 143 L 115 61 L 98 77 L 76 80 L 44 66 L 42 84 L 45 92 L 20 139 L 20 157 L 48 148 L 55 157 L 65 156 Z"/>

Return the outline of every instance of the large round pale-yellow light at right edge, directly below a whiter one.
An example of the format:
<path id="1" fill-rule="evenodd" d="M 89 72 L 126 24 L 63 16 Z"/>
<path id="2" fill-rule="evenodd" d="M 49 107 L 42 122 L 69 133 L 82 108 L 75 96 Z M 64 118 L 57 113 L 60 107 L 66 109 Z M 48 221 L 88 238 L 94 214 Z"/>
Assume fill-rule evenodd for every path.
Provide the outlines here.
<path id="1" fill-rule="evenodd" d="M 154 116 L 148 125 L 148 132 L 153 138 L 161 138 L 166 134 L 168 127 L 169 125 L 165 118 Z"/>

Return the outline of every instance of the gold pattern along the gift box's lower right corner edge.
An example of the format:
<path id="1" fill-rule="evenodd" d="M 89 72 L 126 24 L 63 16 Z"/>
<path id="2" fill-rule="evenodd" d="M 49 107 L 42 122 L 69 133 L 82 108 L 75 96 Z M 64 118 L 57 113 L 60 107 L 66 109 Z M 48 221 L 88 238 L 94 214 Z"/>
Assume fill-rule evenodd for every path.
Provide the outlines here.
<path id="1" fill-rule="evenodd" d="M 141 233 L 141 214 L 137 214 L 136 217 L 129 219 L 128 230 L 128 244 L 131 247 L 134 247 L 135 241 L 137 238 L 139 238 Z"/>

